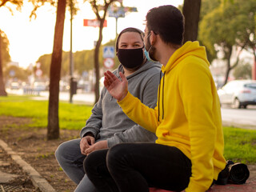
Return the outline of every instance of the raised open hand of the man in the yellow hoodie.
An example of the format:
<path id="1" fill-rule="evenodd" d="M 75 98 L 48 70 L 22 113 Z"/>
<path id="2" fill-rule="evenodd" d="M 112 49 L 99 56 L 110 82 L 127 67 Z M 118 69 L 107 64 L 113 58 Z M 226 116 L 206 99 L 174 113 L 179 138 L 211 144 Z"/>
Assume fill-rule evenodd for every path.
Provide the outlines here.
<path id="1" fill-rule="evenodd" d="M 121 77 L 121 81 L 109 70 L 107 70 L 104 73 L 104 86 L 106 86 L 106 89 L 114 98 L 116 98 L 118 101 L 122 101 L 122 99 L 126 97 L 126 94 L 128 92 L 128 82 L 122 72 L 119 72 L 119 74 Z"/>

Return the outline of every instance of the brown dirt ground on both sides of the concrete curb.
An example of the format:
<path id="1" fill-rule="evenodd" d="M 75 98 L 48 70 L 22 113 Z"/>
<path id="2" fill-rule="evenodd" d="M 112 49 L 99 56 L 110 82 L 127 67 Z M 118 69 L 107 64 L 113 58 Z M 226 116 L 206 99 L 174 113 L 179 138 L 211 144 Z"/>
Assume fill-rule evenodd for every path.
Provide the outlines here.
<path id="1" fill-rule="evenodd" d="M 74 191 L 75 184 L 58 166 L 54 151 L 60 143 L 78 138 L 79 130 L 61 130 L 59 139 L 46 141 L 46 129 L 19 128 L 24 127 L 23 125 L 29 122 L 30 119 L 28 118 L 0 116 L 0 138 L 30 166 L 33 166 L 43 178 L 46 178 L 56 191 Z M 10 157 L 4 155 L 4 151 L 1 149 L 0 157 L 3 162 L 11 162 L 10 166 L 1 168 L 2 172 L 22 175 L 22 177 L 16 178 L 14 182 L 26 186 L 24 191 L 36 191 L 27 175 L 11 161 Z"/>

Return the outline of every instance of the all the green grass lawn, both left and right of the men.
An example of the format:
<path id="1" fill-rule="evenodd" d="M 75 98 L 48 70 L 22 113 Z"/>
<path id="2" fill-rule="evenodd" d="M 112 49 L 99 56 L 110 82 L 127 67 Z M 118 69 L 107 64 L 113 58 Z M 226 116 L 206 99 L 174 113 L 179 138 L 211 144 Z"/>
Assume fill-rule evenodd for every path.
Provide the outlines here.
<path id="1" fill-rule="evenodd" d="M 60 129 L 81 130 L 90 117 L 92 106 L 59 103 Z M 32 100 L 29 96 L 0 97 L 0 115 L 31 118 L 26 127 L 46 128 L 48 102 Z M 14 125 L 15 126 L 15 125 Z M 234 162 L 256 163 L 256 130 L 223 127 L 226 159 Z"/>

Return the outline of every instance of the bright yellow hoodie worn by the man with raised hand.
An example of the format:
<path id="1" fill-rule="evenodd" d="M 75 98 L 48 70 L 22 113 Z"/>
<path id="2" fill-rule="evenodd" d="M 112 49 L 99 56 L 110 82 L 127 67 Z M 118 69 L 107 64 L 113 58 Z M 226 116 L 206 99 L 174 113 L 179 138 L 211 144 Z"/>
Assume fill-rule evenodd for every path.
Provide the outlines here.
<path id="1" fill-rule="evenodd" d="M 158 106 L 150 109 L 130 93 L 118 102 L 134 122 L 157 135 L 156 143 L 176 146 L 190 158 L 186 192 L 208 190 L 226 165 L 220 103 L 209 65 L 205 47 L 186 42 L 162 66 Z"/>

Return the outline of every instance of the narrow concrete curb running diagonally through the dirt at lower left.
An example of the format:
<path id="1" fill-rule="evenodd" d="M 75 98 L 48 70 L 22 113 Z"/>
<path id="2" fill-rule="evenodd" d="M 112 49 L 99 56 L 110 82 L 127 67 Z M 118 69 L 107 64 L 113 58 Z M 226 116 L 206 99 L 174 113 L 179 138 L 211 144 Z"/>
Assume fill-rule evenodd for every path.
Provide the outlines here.
<path id="1" fill-rule="evenodd" d="M 25 162 L 18 154 L 11 150 L 11 148 L 6 144 L 6 142 L 3 142 L 2 139 L 0 139 L 0 146 L 2 146 L 3 150 L 5 150 L 7 154 L 10 154 L 11 158 L 14 159 L 14 162 L 22 167 L 22 170 L 30 175 L 30 179 L 35 187 L 39 188 L 42 192 L 56 192 L 56 190 L 50 186 L 50 183 L 47 182 L 45 178 L 42 178 L 38 171 L 34 170 L 30 164 Z"/>

